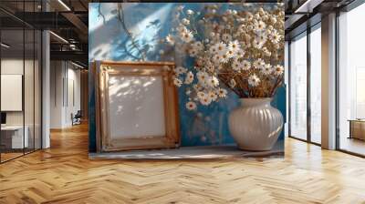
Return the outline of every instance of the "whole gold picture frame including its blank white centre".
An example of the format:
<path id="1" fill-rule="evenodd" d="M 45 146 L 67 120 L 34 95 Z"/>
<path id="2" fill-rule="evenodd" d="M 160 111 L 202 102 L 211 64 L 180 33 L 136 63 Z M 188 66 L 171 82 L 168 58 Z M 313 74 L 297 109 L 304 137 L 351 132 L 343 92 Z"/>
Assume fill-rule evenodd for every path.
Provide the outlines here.
<path id="1" fill-rule="evenodd" d="M 176 148 L 180 146 L 181 137 L 176 90 L 177 88 L 172 82 L 172 70 L 174 66 L 174 63 L 172 62 L 98 61 L 93 64 L 93 72 L 96 82 L 96 125 L 98 152 L 132 149 Z M 148 81 L 146 82 L 146 80 Z M 142 83 L 140 83 L 141 86 L 152 84 L 150 88 L 151 90 L 148 88 L 143 88 L 143 90 L 145 90 L 144 94 L 150 94 L 151 97 L 152 93 L 149 92 L 154 91 L 153 93 L 157 93 L 157 97 L 161 96 L 162 98 L 155 98 L 156 100 L 154 100 L 151 105 L 149 104 L 148 106 L 144 106 L 145 108 L 143 106 L 133 107 L 135 106 L 134 104 L 138 103 L 127 101 L 127 99 L 123 104 L 123 99 L 120 98 L 124 97 L 120 96 L 126 95 L 127 92 L 141 92 L 135 91 L 133 86 L 129 86 L 131 82 L 133 83 L 135 81 L 142 81 Z M 143 81 L 145 82 L 144 84 Z M 114 86 L 113 83 L 123 84 L 117 84 L 118 86 Z M 120 86 L 128 87 L 129 90 L 121 93 L 119 91 L 119 93 L 116 94 L 118 91 L 116 92 L 114 89 L 115 87 Z M 141 86 L 135 86 L 135 89 L 138 88 L 140 90 Z M 111 95 L 111 92 L 114 95 Z M 113 99 L 110 101 L 110 97 L 113 96 L 120 97 L 118 98 L 118 103 L 114 102 Z M 137 94 L 135 96 L 135 98 L 141 97 L 141 94 Z M 146 100 L 149 100 L 150 97 L 146 97 Z M 133 95 L 131 95 L 129 98 L 133 99 Z M 159 103 L 159 100 L 162 100 L 162 104 Z M 145 101 L 142 102 L 146 104 Z M 126 111 L 118 111 L 119 108 L 124 108 L 124 110 L 132 114 L 131 117 L 133 118 L 129 119 L 128 116 L 127 118 L 121 116 L 123 114 L 117 112 L 124 113 Z M 131 108 L 135 109 L 131 110 Z M 138 108 L 150 108 L 150 110 L 147 110 L 147 113 L 150 111 L 156 114 L 153 114 L 153 116 L 151 116 L 151 114 L 146 114 L 145 117 L 138 116 L 138 118 L 134 118 L 134 111 L 139 110 Z M 158 109 L 162 109 L 162 111 L 158 111 Z M 147 117 L 151 117 L 151 119 L 148 119 Z M 141 119 L 142 121 L 146 121 L 146 118 L 148 120 L 147 122 L 141 122 L 141 124 L 138 122 L 135 123 L 135 127 L 138 128 L 133 128 L 133 126 L 127 125 L 134 125 L 134 120 L 139 121 Z M 130 122 L 130 120 L 132 121 Z M 150 124 L 150 122 L 151 124 L 156 123 L 158 125 L 153 126 Z M 122 127 L 123 125 L 128 126 L 124 128 L 126 131 L 118 131 L 118 129 L 123 129 L 120 128 L 120 126 Z M 149 128 L 139 128 L 140 125 L 149 126 Z M 134 132 L 138 132 L 141 135 L 132 135 L 133 129 L 135 130 Z M 140 129 L 142 129 L 142 131 L 140 131 Z M 148 132 L 150 131 L 149 129 L 151 129 L 151 134 Z M 125 132 L 130 132 L 131 135 L 128 135 L 128 133 Z"/>

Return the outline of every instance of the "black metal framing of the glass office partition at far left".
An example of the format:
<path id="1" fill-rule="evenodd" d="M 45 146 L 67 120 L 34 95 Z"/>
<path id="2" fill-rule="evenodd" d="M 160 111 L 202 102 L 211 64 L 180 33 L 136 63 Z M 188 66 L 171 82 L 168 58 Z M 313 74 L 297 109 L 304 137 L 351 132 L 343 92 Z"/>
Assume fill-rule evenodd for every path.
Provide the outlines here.
<path id="1" fill-rule="evenodd" d="M 35 12 L 36 11 L 36 3 L 42 3 L 41 1 L 36 1 L 36 0 L 23 0 L 23 1 L 18 1 L 19 3 L 22 3 L 23 4 L 23 19 L 25 19 L 25 12 L 26 12 L 26 3 L 33 3 L 33 11 Z M 4 8 L 1 8 L 1 12 L 5 12 L 5 14 L 7 15 L 11 15 L 11 13 L 8 13 Z M 41 10 L 43 10 L 43 6 L 41 8 Z M 15 158 L 20 158 L 20 157 L 23 157 L 27 154 L 30 154 L 30 153 L 33 153 L 35 152 L 36 150 L 39 150 L 43 147 L 43 118 L 42 118 L 42 115 L 43 115 L 43 104 L 42 104 L 42 98 L 43 98 L 43 90 L 42 90 L 42 87 L 43 87 L 43 80 L 42 80 L 42 72 L 43 72 L 43 36 L 42 36 L 42 30 L 41 29 L 37 29 L 36 27 L 34 26 L 30 26 L 29 24 L 27 24 L 25 21 L 23 21 L 22 19 L 19 19 L 18 17 L 16 17 L 15 15 L 12 15 L 17 21 L 20 21 L 21 22 L 21 25 L 22 27 L 17 27 L 17 28 L 13 28 L 13 29 L 6 29 L 6 28 L 2 28 L 1 26 L 1 21 L 0 21 L 0 42 L 3 42 L 2 40 L 2 31 L 3 30 L 19 30 L 22 33 L 23 35 L 23 76 L 22 76 L 22 117 L 23 117 L 23 153 L 19 156 L 16 156 L 14 158 L 9 158 L 9 159 L 6 159 L 4 160 L 2 158 L 2 152 L 0 151 L 0 164 L 2 163 L 5 163 L 7 161 L 10 161 L 10 160 L 13 160 Z M 19 29 L 20 28 L 20 29 Z M 25 139 L 25 134 L 26 134 L 26 98 L 25 98 L 25 92 L 26 92 L 26 83 L 25 83 L 25 76 L 26 76 L 26 30 L 27 31 L 30 31 L 30 33 L 33 34 L 33 148 L 26 148 L 26 139 Z M 38 72 L 37 72 L 37 75 L 39 77 L 39 84 L 37 85 L 38 87 L 38 99 L 39 99 L 39 106 L 36 107 L 36 31 L 39 31 L 38 32 L 38 40 L 39 40 L 39 45 L 37 47 L 37 52 L 38 52 L 38 55 L 40 55 L 40 57 L 38 58 Z M 31 56 L 32 57 L 32 56 Z M 2 72 L 2 60 L 3 60 L 3 53 L 2 53 L 2 48 L 0 48 L 0 74 Z M 1 79 L 0 79 L 1 81 Z M 32 85 L 31 85 L 32 86 Z M 1 89 L 1 85 L 0 85 L 0 89 Z M 1 92 L 1 90 L 0 90 Z M 1 97 L 0 97 L 1 99 Z M 38 140 L 38 145 L 39 147 L 36 147 L 36 108 L 37 108 L 37 111 L 39 111 L 38 113 L 38 135 L 37 135 L 37 138 L 39 139 Z M 0 105 L 0 112 L 1 112 L 1 105 Z M 1 144 L 1 131 L 0 131 L 0 144 Z M 1 150 L 1 147 L 0 147 L 0 150 Z M 27 150 L 27 151 L 26 151 Z M 19 152 L 20 153 L 20 152 Z"/>

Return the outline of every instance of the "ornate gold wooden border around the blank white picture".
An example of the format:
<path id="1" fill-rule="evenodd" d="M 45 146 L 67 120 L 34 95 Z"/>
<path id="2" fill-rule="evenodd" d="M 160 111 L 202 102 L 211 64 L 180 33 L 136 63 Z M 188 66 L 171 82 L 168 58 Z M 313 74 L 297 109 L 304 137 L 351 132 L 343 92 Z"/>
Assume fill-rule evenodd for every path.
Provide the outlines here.
<path id="1" fill-rule="evenodd" d="M 168 66 L 169 69 L 166 69 Z M 97 152 L 146 148 L 177 148 L 181 143 L 177 88 L 172 82 L 172 62 L 97 61 L 92 65 L 96 90 Z M 170 71 L 169 71 L 170 70 Z M 110 140 L 108 81 L 117 76 L 162 76 L 165 135 Z"/>

